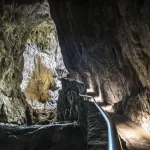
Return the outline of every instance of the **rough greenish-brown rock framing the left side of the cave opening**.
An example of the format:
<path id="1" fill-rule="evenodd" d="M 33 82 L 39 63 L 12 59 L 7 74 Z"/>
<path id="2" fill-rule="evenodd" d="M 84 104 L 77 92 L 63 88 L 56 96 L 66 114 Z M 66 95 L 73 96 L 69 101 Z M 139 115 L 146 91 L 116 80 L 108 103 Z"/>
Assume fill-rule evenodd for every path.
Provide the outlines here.
<path id="1" fill-rule="evenodd" d="M 32 114 L 32 109 L 28 105 L 25 94 L 21 92 L 20 88 L 20 84 L 22 83 L 22 71 L 24 67 L 23 52 L 26 49 L 24 55 L 27 57 L 26 52 L 27 49 L 29 49 L 29 45 L 27 45 L 28 39 L 33 39 L 34 43 L 35 40 L 39 40 L 34 39 L 34 37 L 31 38 L 30 32 L 33 31 L 34 27 L 39 26 L 44 21 L 48 21 L 50 19 L 49 4 L 46 1 L 42 1 L 34 4 L 22 3 L 20 5 L 7 5 L 6 2 L 1 5 L 0 13 L 0 122 L 24 124 L 31 122 L 34 114 Z M 34 32 L 32 35 L 34 35 Z M 44 46 L 47 46 L 48 40 L 45 41 L 46 43 L 44 43 Z M 40 43 L 41 47 L 43 46 L 41 45 L 43 44 L 42 41 L 37 43 Z M 55 40 L 55 43 L 58 42 Z M 35 47 L 35 45 L 33 47 Z M 57 44 L 54 46 L 57 46 Z M 59 46 L 57 46 L 57 48 L 55 47 L 54 49 L 54 53 L 60 52 Z M 34 53 L 33 49 L 31 49 L 31 53 Z M 35 51 L 35 53 L 38 52 Z M 59 57 L 59 54 L 55 56 L 53 54 L 53 57 L 55 57 L 55 59 L 62 59 Z M 49 65 L 44 65 L 44 58 L 38 58 L 39 56 L 37 55 L 37 58 L 35 58 L 35 68 L 39 69 L 42 67 L 44 72 L 56 72 L 52 70 L 54 67 L 50 69 Z M 41 67 L 37 66 L 39 62 L 43 63 L 43 65 L 41 64 Z M 55 66 L 59 65 L 60 64 L 58 63 Z M 32 67 L 34 69 L 34 66 Z M 28 69 L 30 70 L 30 68 Z M 31 72 L 31 70 L 29 72 Z M 39 70 L 37 72 L 39 72 Z M 34 76 L 31 76 L 31 79 L 32 78 L 34 78 Z M 48 78 L 48 80 L 50 79 Z M 39 82 L 40 80 L 38 79 L 38 84 Z M 48 89 L 48 86 L 51 88 L 51 84 L 54 82 L 55 79 L 54 81 L 48 81 L 46 89 Z M 59 81 L 56 81 L 55 84 L 57 87 Z M 30 88 L 30 86 L 28 88 Z M 48 97 L 47 92 L 50 91 L 46 91 L 46 96 Z M 43 100 L 45 100 L 45 98 L 43 98 Z"/>

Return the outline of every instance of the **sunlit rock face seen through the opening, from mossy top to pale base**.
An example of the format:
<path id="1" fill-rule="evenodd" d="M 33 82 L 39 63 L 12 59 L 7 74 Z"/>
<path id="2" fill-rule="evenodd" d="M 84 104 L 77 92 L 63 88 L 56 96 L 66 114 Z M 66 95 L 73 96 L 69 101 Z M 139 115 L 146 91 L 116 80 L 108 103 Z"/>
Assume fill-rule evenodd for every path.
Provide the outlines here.
<path id="1" fill-rule="evenodd" d="M 60 79 L 66 77 L 68 72 L 63 63 L 54 23 L 44 22 L 40 26 L 42 29 L 35 27 L 31 31 L 31 39 L 27 42 L 21 88 L 33 108 L 54 109 L 62 88 Z M 45 26 L 44 30 L 42 26 Z M 46 42 L 47 39 L 49 41 Z"/>

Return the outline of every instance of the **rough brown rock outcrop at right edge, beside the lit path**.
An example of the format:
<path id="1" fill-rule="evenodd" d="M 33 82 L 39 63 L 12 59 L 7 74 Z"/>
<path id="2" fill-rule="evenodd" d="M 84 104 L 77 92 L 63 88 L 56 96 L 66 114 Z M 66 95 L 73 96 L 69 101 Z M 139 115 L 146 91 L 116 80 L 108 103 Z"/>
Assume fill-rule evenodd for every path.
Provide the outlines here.
<path id="1" fill-rule="evenodd" d="M 114 105 L 116 113 L 123 114 L 150 132 L 150 101 L 149 91 L 145 90 L 137 96 L 131 97 Z"/>

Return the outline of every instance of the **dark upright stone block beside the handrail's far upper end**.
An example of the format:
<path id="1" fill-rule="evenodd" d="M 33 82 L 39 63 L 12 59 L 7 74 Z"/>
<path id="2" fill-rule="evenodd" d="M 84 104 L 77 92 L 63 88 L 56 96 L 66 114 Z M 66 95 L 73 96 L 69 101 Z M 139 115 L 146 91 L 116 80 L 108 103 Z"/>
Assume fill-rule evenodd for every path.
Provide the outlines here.
<path id="1" fill-rule="evenodd" d="M 79 93 L 84 92 L 84 84 L 72 79 L 62 79 L 62 91 L 57 103 L 58 121 L 77 121 L 86 125 L 86 105 Z"/>

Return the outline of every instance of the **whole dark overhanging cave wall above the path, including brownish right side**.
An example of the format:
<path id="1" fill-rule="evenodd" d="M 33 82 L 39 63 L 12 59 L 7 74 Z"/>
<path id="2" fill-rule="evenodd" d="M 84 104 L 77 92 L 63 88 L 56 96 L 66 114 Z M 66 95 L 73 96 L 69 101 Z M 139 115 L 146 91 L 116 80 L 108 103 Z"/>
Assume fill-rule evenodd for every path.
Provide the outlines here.
<path id="1" fill-rule="evenodd" d="M 67 69 L 75 70 L 82 78 L 84 72 L 92 74 L 94 82 L 99 83 L 103 101 L 129 100 L 149 89 L 150 1 L 49 0 L 49 3 Z M 132 114 L 126 116 L 133 118 Z"/>

